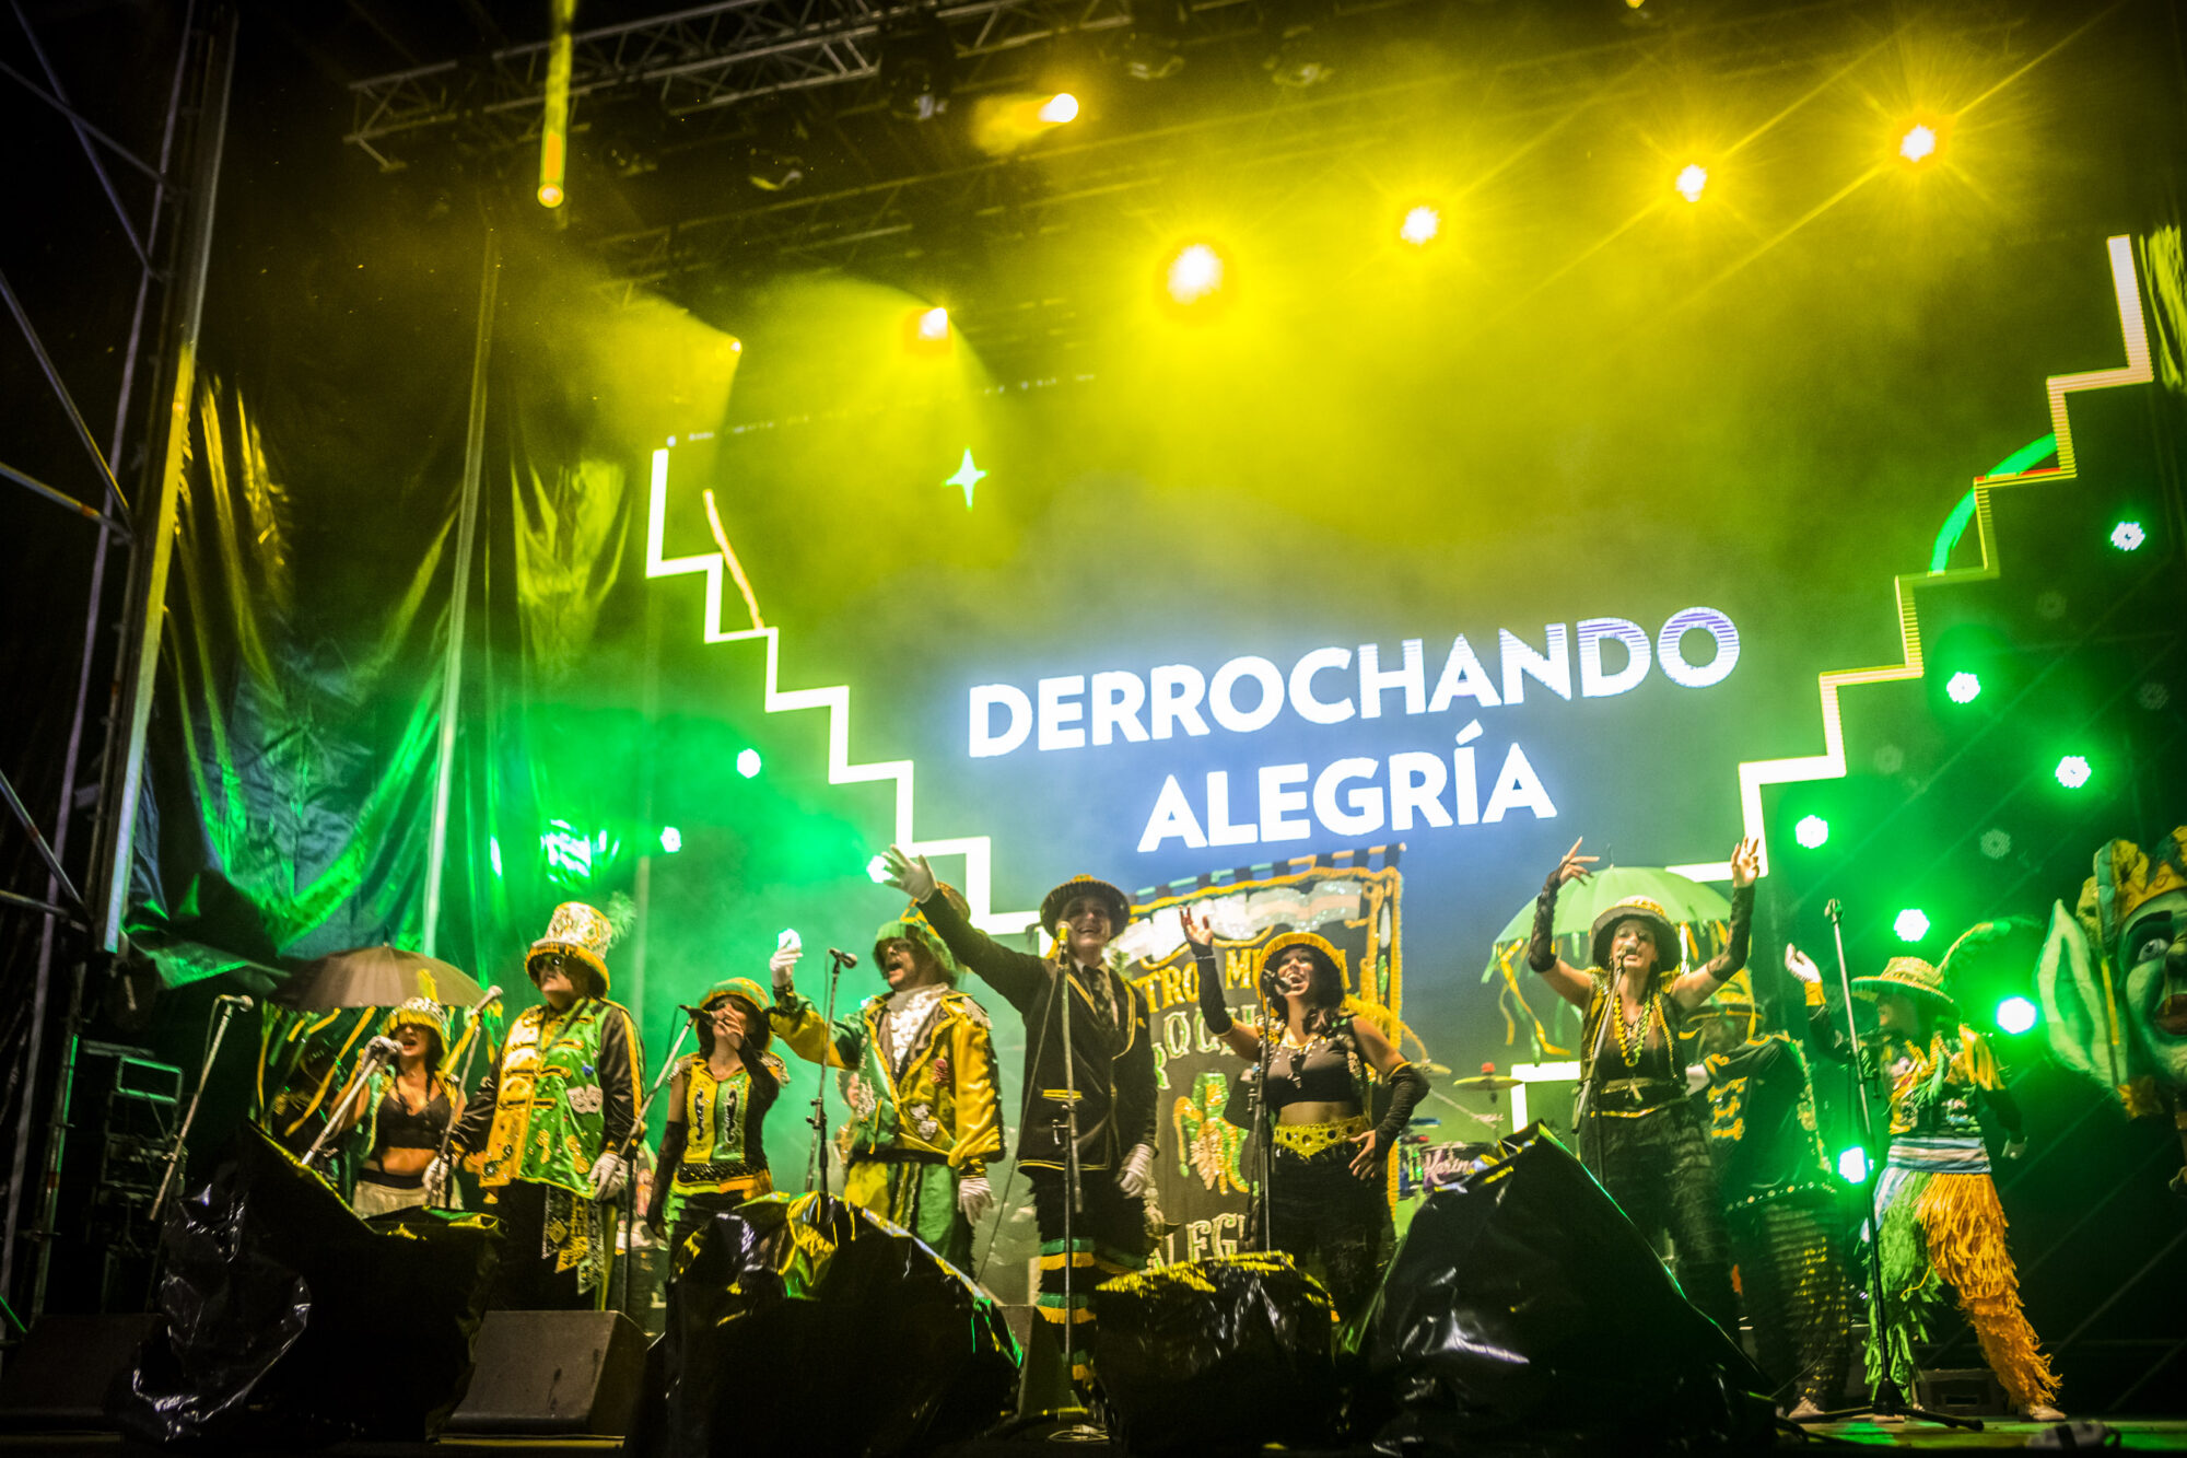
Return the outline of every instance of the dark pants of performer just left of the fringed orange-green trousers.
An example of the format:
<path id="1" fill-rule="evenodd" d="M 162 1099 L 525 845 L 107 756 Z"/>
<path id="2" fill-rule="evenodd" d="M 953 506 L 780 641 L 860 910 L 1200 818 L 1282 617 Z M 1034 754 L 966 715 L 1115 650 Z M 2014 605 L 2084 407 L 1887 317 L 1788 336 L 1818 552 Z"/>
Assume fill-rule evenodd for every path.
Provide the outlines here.
<path id="1" fill-rule="evenodd" d="M 1739 1294 L 1778 1401 L 1835 1408 L 1846 1395 L 1850 1296 L 1828 1191 L 1802 1191 L 1726 1215 Z"/>

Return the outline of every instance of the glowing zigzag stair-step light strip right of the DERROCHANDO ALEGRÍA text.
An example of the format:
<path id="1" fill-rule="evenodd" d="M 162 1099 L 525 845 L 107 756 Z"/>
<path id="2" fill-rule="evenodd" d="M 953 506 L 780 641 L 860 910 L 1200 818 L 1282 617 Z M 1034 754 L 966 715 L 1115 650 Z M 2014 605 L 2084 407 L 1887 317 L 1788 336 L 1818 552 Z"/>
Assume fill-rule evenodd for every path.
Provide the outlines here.
<path id="1" fill-rule="evenodd" d="M 1846 777 L 1846 731 L 1839 718 L 1837 690 L 1850 683 L 1898 683 L 1920 679 L 1925 672 L 1920 646 L 1920 620 L 1914 606 L 1914 589 L 1946 587 L 1951 582 L 1988 582 L 2003 567 L 1990 541 L 1990 490 L 1997 486 L 2030 486 L 2069 482 L 2080 475 L 2073 458 L 2073 423 L 2067 414 L 2065 396 L 2080 390 L 2110 390 L 2113 385 L 2145 385 L 2154 379 L 2150 370 L 2150 335 L 2141 320 L 2141 282 L 2135 274 L 2135 245 L 2126 234 L 2106 239 L 2110 252 L 2110 285 L 2119 300 L 2119 337 L 2126 342 L 2126 363 L 2117 370 L 2086 370 L 2082 374 L 2051 374 L 2045 381 L 2049 394 L 2051 431 L 2058 436 L 2058 464 L 2043 471 L 2021 471 L 2016 475 L 1986 475 L 1975 479 L 1975 532 L 1981 541 L 1981 565 L 1946 571 L 1903 571 L 1892 578 L 1892 593 L 1898 600 L 1898 646 L 1901 661 L 1885 668 L 1839 668 L 1817 674 L 1822 687 L 1822 744 L 1820 755 L 1798 755 L 1791 760 L 1747 760 L 1739 766 L 1739 812 L 1745 834 L 1763 843 L 1763 873 L 1769 871 L 1769 838 L 1763 834 L 1763 786 L 1798 784 L 1806 779 Z M 1704 865 L 1675 865 L 1680 876 L 1695 880 L 1730 880 L 1732 867 L 1726 860 Z"/>

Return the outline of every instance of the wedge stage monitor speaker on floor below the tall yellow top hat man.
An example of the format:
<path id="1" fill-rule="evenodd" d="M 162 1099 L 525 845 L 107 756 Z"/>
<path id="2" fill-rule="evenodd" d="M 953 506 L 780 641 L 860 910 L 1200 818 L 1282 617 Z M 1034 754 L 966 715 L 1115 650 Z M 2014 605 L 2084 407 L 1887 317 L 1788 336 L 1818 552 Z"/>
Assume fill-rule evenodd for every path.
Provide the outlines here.
<path id="1" fill-rule="evenodd" d="M 623 1436 L 645 1333 L 621 1311 L 488 1311 L 448 1432 Z"/>

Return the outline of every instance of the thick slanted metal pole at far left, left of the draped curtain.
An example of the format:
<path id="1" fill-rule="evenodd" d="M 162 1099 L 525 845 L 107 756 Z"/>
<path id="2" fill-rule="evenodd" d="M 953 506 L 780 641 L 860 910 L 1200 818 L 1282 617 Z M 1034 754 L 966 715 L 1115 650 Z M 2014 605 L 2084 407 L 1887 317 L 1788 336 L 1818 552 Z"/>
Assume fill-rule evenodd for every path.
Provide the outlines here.
<path id="1" fill-rule="evenodd" d="M 206 274 L 212 265 L 212 219 L 221 193 L 221 153 L 227 144 L 227 94 L 236 72 L 236 13 L 227 11 L 206 48 L 203 105 L 197 118 L 197 160 L 190 206 L 184 215 L 177 289 L 168 296 L 173 320 L 173 387 L 166 405 L 166 442 L 160 484 L 136 523 L 138 552 L 129 563 L 118 742 L 109 742 L 101 790 L 105 821 L 92 867 L 92 919 L 103 950 L 118 950 L 129 904 L 129 860 L 136 843 L 138 799 L 144 792 L 144 733 L 151 725 L 160 676 L 160 626 L 166 620 L 166 574 L 175 560 L 175 517 L 190 447 L 190 398 L 197 390 L 197 339 L 206 313 Z"/>

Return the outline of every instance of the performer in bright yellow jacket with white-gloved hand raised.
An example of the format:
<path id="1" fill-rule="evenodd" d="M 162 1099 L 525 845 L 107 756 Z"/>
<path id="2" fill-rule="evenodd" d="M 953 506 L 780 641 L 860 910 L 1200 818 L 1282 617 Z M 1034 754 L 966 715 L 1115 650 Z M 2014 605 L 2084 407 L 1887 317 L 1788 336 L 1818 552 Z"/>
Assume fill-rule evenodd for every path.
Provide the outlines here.
<path id="1" fill-rule="evenodd" d="M 873 939 L 888 992 L 838 1018 L 833 1035 L 792 985 L 796 961 L 785 948 L 770 963 L 772 1022 L 798 1057 L 844 1071 L 844 1195 L 969 1270 L 971 1228 L 995 1202 L 986 1162 L 1002 1158 L 986 1009 L 958 992 L 962 968 L 916 904 Z"/>

